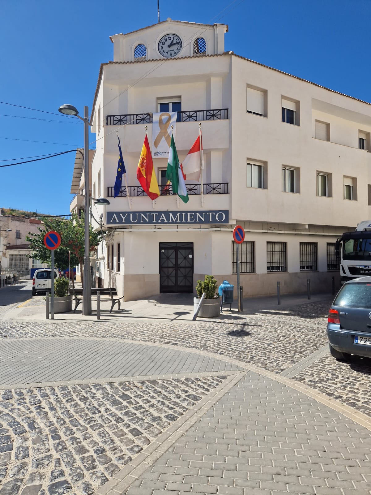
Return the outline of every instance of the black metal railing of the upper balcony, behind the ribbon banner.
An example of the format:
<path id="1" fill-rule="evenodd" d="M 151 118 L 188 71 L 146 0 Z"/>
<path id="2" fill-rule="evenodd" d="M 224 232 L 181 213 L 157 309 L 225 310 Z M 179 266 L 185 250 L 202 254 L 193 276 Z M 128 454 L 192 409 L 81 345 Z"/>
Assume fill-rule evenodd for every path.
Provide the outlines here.
<path id="1" fill-rule="evenodd" d="M 228 119 L 228 108 L 216 110 L 188 110 L 178 112 L 177 122 L 199 122 L 202 120 Z M 107 115 L 106 125 L 152 124 L 152 113 L 128 113 L 126 115 Z"/>

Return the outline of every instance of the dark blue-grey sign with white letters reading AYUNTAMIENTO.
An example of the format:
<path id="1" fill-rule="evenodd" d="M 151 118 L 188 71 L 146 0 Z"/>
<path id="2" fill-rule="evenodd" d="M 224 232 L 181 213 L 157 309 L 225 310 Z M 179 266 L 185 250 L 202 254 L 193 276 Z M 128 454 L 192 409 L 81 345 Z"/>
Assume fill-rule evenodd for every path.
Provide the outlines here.
<path id="1" fill-rule="evenodd" d="M 199 225 L 229 223 L 228 210 L 107 211 L 106 225 Z"/>

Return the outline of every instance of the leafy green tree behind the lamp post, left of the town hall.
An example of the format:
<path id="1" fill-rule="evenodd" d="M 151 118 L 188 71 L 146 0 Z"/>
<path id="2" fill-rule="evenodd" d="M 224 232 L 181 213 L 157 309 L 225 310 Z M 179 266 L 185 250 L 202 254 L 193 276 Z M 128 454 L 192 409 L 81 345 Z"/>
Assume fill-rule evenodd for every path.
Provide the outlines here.
<path id="1" fill-rule="evenodd" d="M 73 214 L 69 220 L 51 217 L 40 217 L 44 222 L 38 227 L 39 233 L 30 233 L 26 241 L 30 244 L 32 254 L 30 257 L 40 259 L 42 263 L 51 263 L 51 251 L 44 245 L 45 233 L 55 230 L 60 235 L 60 246 L 54 251 L 54 263 L 56 268 L 65 270 L 68 268 L 68 255 L 71 252 L 71 267 L 80 265 L 81 282 L 83 284 L 83 265 L 85 254 L 85 226 L 84 214 L 81 218 Z M 89 244 L 90 251 L 95 251 L 101 240 L 101 233 L 94 232 L 90 225 Z"/>

